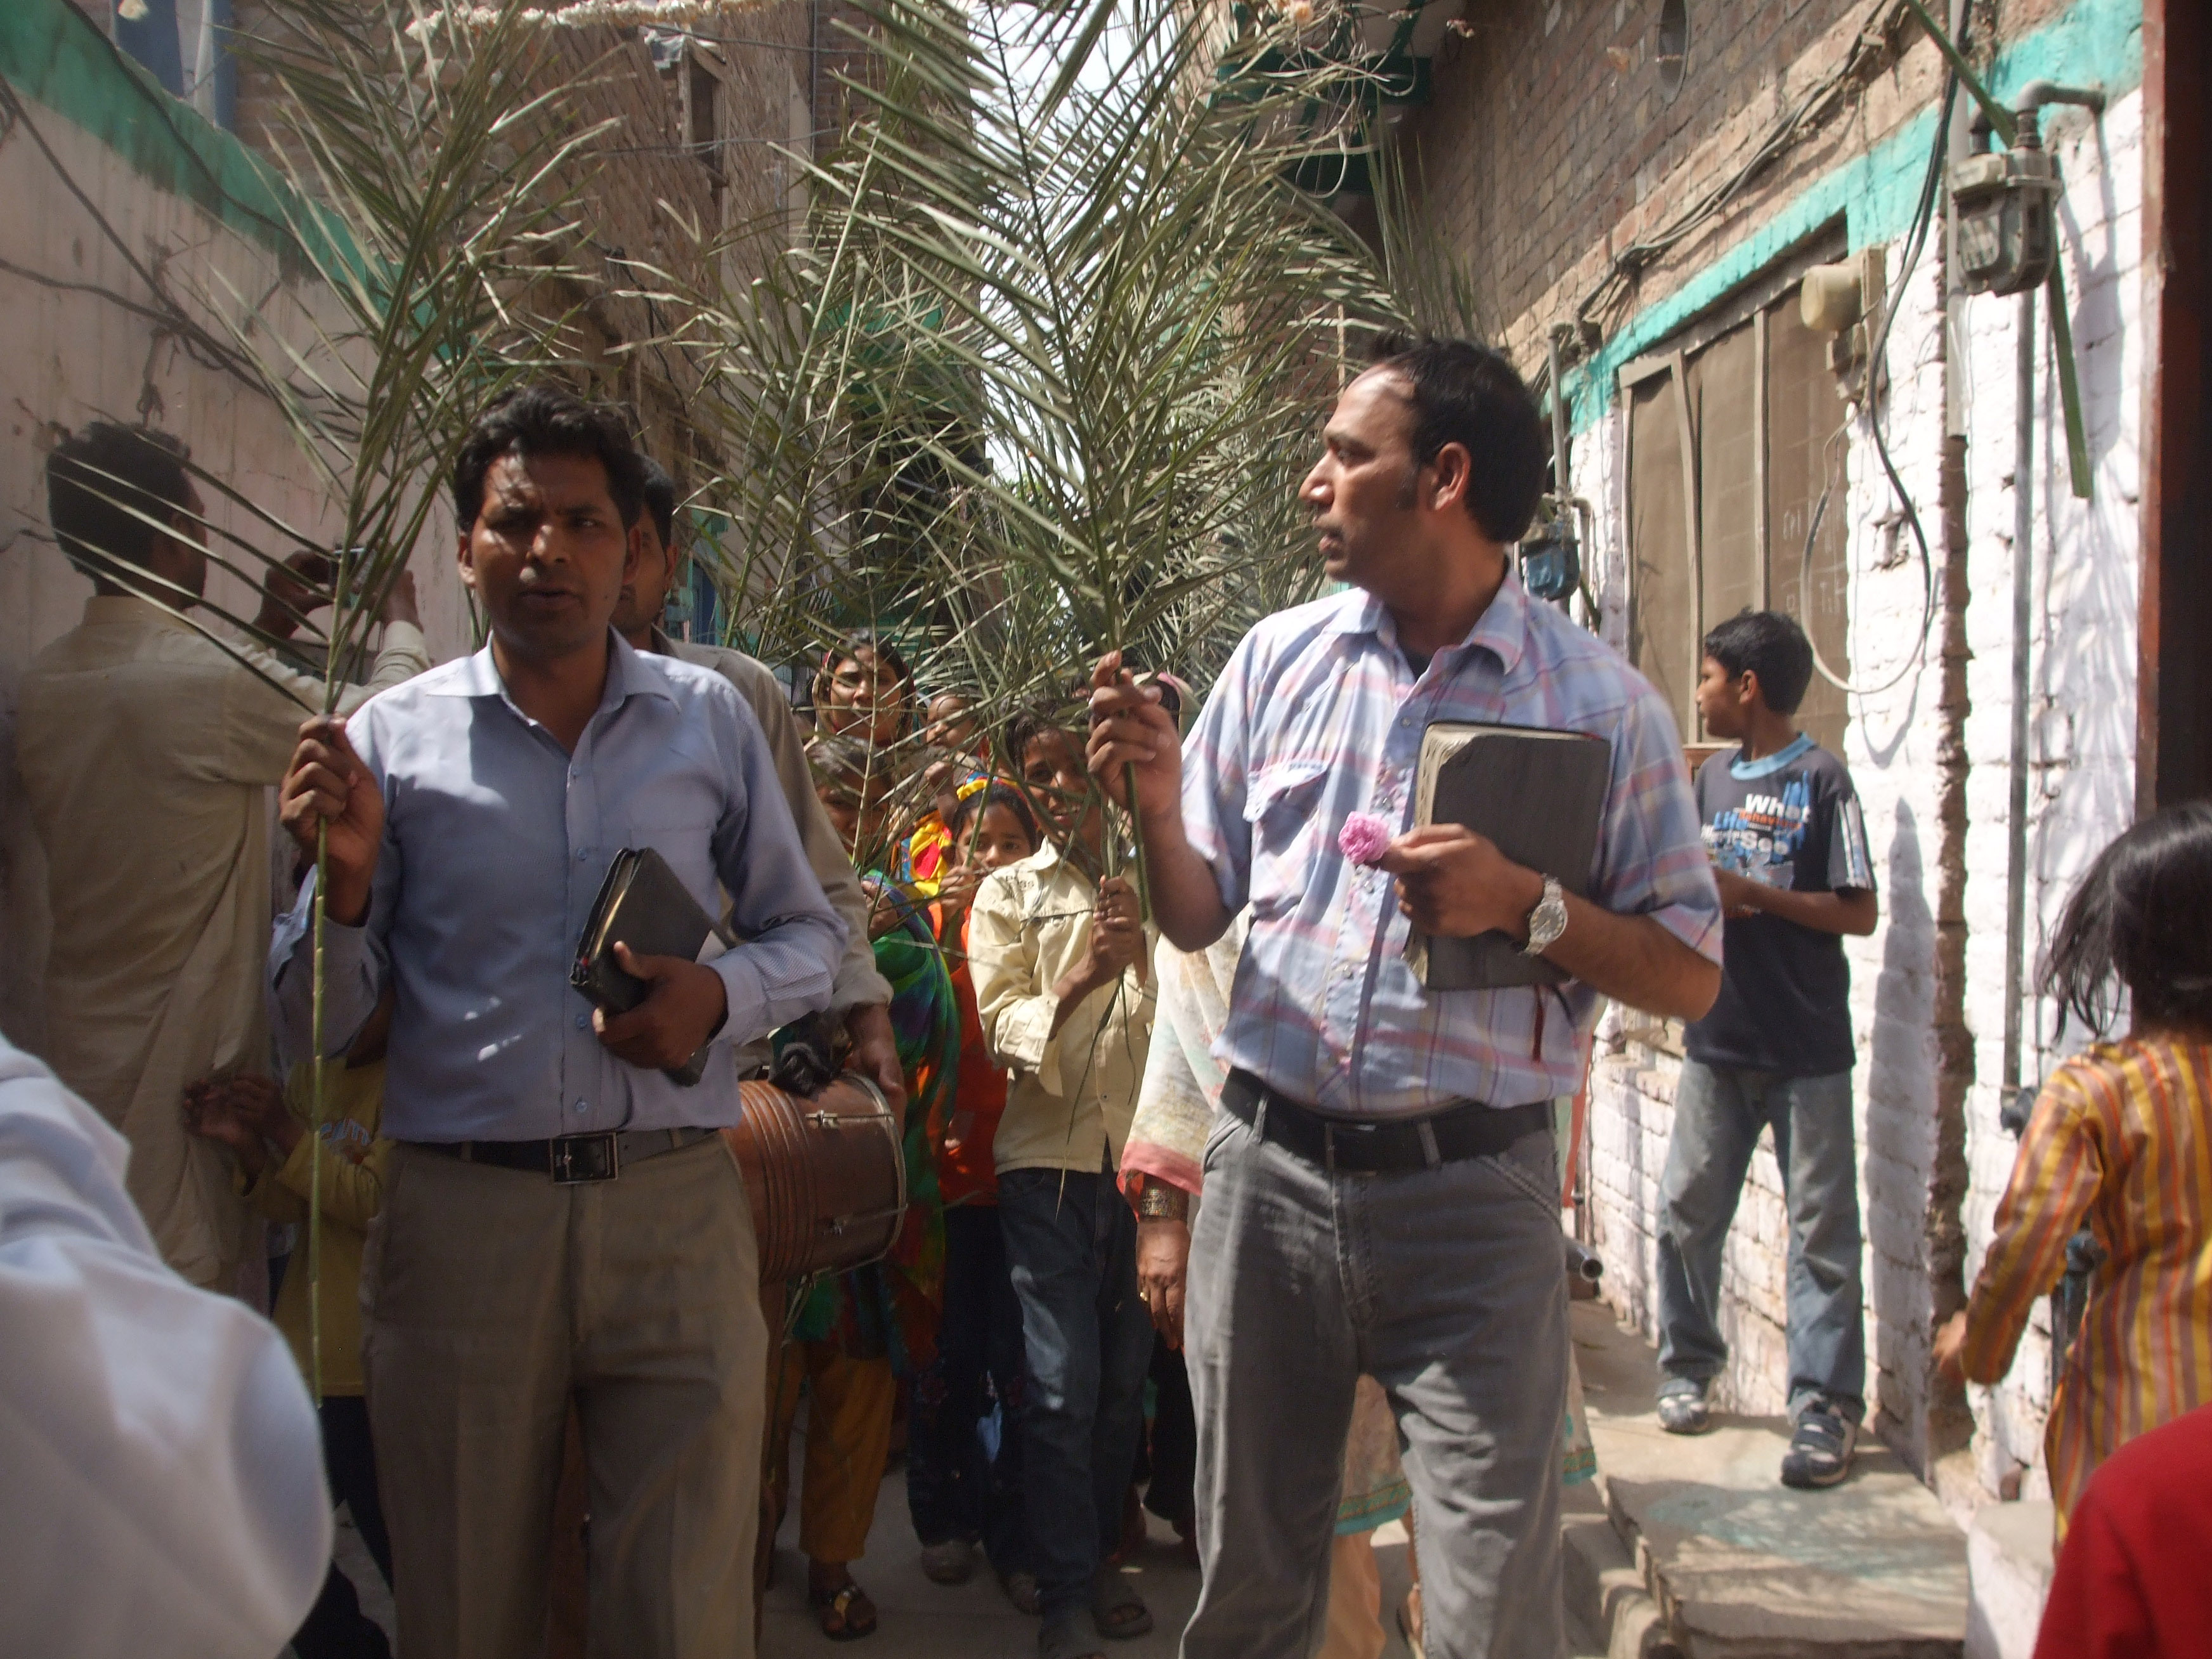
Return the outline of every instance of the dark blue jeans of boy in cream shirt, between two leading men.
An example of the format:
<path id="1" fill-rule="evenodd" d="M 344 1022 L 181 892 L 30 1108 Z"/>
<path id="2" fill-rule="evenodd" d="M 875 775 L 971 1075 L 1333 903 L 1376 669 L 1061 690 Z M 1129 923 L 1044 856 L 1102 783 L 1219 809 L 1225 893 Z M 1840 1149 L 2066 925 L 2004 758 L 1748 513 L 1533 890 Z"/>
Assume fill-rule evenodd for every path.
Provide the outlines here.
<path id="1" fill-rule="evenodd" d="M 1137 1296 L 1137 1217 L 1110 1175 L 1006 1170 L 998 1221 L 1022 1301 L 1022 1495 L 1051 1621 L 1091 1606 L 1121 1535 L 1152 1316 Z"/>

